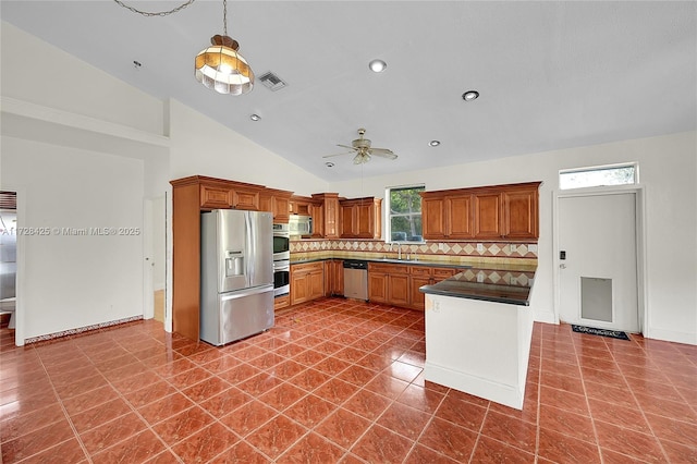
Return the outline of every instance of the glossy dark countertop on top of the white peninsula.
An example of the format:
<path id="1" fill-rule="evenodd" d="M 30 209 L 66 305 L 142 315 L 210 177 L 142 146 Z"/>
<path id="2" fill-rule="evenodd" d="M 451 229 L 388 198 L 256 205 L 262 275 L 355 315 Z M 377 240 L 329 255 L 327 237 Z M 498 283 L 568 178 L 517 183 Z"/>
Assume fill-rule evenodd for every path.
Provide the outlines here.
<path id="1" fill-rule="evenodd" d="M 534 271 L 473 268 L 433 285 L 424 285 L 419 291 L 455 298 L 529 306 L 534 281 Z"/>

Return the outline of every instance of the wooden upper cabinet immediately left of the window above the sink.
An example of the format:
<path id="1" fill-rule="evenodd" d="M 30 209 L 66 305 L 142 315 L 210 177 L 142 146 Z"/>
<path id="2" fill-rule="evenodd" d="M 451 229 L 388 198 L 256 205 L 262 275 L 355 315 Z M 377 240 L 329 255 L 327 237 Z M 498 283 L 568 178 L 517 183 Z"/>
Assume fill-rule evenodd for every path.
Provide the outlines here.
<path id="1" fill-rule="evenodd" d="M 342 239 L 380 239 L 382 198 L 354 198 L 339 202 Z"/>

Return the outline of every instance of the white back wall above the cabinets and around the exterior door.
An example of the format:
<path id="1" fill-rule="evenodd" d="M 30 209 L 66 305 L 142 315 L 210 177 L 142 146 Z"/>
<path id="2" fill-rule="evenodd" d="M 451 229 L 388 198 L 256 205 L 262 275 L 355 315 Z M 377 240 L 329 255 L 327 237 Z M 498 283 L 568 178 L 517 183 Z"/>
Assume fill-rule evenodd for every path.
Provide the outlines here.
<path id="1" fill-rule="evenodd" d="M 542 181 L 537 320 L 554 320 L 552 191 L 560 169 L 637 161 L 646 192 L 648 321 L 645 334 L 697 344 L 697 133 L 624 141 L 493 161 L 333 183 L 344 196 L 384 196 L 389 185 L 427 190 Z"/>

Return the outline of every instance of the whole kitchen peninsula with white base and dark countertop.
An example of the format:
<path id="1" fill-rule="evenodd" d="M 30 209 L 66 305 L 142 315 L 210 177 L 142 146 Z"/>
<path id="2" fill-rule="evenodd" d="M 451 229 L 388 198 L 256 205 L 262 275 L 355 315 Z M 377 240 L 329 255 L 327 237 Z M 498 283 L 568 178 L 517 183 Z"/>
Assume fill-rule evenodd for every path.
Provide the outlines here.
<path id="1" fill-rule="evenodd" d="M 535 269 L 467 269 L 426 294 L 426 380 L 523 408 Z"/>

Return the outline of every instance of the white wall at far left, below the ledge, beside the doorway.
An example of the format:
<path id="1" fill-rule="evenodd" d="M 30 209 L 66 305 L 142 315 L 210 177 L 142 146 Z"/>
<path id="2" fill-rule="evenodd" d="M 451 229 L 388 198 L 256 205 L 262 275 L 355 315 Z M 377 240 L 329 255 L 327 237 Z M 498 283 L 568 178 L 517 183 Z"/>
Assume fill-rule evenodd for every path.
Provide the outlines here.
<path id="1" fill-rule="evenodd" d="M 58 229 L 142 229 L 143 161 L 7 136 L 1 150 L 0 183 L 22 196 L 17 224 L 50 230 L 21 237 L 23 337 L 142 315 L 142 235 Z"/>

